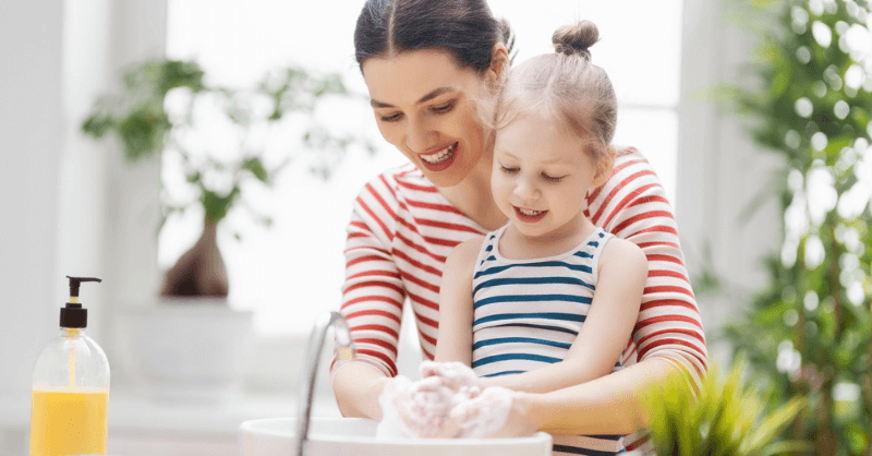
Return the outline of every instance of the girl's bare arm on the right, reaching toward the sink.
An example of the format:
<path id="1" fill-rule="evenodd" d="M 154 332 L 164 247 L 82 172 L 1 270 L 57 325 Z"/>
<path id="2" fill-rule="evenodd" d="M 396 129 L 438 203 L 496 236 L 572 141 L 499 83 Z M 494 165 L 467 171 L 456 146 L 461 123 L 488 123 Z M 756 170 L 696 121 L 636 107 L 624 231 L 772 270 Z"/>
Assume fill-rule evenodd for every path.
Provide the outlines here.
<path id="1" fill-rule="evenodd" d="M 646 273 L 645 256 L 635 244 L 609 240 L 600 259 L 591 309 L 564 360 L 521 374 L 485 379 L 484 384 L 547 393 L 611 372 L 630 340 Z"/>

